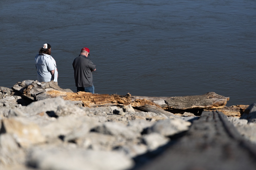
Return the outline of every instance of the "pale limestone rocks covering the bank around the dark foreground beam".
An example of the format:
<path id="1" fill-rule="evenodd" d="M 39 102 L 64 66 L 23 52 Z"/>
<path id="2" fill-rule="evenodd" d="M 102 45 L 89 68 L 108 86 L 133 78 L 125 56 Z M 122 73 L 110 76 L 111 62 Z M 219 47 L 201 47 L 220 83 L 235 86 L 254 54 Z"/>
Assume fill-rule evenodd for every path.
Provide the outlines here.
<path id="1" fill-rule="evenodd" d="M 44 86 L 42 91 L 52 88 Z M 25 94 L 15 85 L 0 87 L 0 169 L 143 169 L 200 120 L 191 112 L 163 114 L 131 104 L 83 107 L 61 97 L 34 101 L 18 93 L 22 90 Z M 226 117 L 255 145 L 256 103 L 244 110 Z"/>

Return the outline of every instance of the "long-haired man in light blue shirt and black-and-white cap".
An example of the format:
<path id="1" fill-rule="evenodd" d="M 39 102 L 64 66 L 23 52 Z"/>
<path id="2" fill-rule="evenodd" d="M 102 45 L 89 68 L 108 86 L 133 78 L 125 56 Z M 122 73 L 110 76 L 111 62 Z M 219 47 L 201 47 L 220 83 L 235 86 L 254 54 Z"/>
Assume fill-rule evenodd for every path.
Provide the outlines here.
<path id="1" fill-rule="evenodd" d="M 43 47 L 40 48 L 39 54 L 35 57 L 38 82 L 50 82 L 53 80 L 57 83 L 58 71 L 56 61 L 50 55 L 51 45 L 44 44 Z"/>

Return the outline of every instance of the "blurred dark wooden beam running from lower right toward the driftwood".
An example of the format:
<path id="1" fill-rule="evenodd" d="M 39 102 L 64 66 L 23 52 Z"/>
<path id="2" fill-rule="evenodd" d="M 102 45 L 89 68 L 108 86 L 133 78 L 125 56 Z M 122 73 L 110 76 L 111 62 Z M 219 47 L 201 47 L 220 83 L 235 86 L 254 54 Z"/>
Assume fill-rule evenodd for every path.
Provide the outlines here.
<path id="1" fill-rule="evenodd" d="M 180 140 L 140 169 L 254 170 L 255 148 L 256 145 L 245 140 L 223 113 L 202 112 Z"/>

